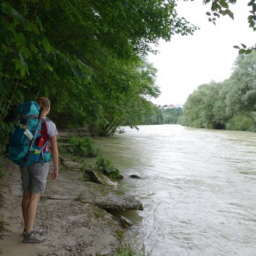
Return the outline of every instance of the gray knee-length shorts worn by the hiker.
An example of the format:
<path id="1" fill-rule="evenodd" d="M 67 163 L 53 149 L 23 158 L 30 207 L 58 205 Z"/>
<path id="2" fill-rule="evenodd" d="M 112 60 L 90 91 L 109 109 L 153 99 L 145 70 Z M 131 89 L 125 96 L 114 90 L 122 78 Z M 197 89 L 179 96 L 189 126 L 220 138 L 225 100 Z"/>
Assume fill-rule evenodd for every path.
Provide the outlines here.
<path id="1" fill-rule="evenodd" d="M 32 194 L 43 194 L 46 190 L 46 180 L 49 173 L 49 163 L 34 163 L 33 166 L 20 166 L 23 191 Z"/>

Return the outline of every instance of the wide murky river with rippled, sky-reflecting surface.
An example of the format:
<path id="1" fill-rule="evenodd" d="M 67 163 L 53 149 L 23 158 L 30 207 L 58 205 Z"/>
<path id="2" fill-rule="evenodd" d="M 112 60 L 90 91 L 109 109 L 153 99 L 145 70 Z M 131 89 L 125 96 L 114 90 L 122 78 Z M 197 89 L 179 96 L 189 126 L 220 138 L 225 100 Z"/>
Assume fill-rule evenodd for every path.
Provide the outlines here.
<path id="1" fill-rule="evenodd" d="M 96 143 L 121 169 L 121 189 L 144 205 L 126 213 L 143 254 L 255 256 L 256 133 L 139 128 Z"/>

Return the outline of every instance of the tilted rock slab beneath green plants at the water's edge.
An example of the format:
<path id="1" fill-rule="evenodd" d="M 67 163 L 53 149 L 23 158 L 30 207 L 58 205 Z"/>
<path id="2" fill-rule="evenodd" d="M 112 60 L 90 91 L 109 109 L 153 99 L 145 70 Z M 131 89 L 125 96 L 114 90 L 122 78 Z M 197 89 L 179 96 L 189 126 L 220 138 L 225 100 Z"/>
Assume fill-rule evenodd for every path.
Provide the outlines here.
<path id="1" fill-rule="evenodd" d="M 99 170 L 86 169 L 84 172 L 84 177 L 86 178 L 86 180 L 90 182 L 95 182 L 98 184 L 115 187 L 115 188 L 117 187 L 117 182 L 114 182 L 109 177 L 101 173 Z"/>

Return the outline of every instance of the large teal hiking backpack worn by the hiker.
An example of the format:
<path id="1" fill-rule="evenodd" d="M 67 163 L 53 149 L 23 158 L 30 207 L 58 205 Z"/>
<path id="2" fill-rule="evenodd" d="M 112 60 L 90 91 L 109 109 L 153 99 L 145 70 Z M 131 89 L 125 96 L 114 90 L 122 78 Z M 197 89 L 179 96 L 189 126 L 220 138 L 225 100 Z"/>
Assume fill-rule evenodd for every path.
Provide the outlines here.
<path id="1" fill-rule="evenodd" d="M 50 152 L 44 151 L 46 141 L 42 139 L 43 119 L 39 119 L 40 106 L 35 101 L 23 102 L 15 111 L 16 124 L 10 134 L 7 149 L 8 159 L 19 166 L 32 166 L 34 163 L 50 161 Z"/>

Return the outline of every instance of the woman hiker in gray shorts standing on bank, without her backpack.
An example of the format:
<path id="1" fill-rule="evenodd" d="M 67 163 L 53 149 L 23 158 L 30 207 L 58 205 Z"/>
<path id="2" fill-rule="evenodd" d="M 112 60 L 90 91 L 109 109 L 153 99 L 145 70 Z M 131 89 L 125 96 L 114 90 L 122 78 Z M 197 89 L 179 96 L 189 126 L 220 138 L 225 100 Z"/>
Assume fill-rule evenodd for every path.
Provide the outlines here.
<path id="1" fill-rule="evenodd" d="M 41 137 L 39 139 L 44 140 L 43 151 L 52 155 L 54 169 L 50 178 L 55 180 L 58 177 L 58 131 L 53 121 L 46 118 L 50 112 L 50 100 L 46 97 L 40 97 L 38 103 L 41 107 L 39 119 L 42 120 Z M 34 229 L 34 218 L 41 194 L 46 189 L 48 172 L 49 162 L 34 163 L 32 166 L 20 166 L 23 189 L 22 214 L 25 224 L 23 242 L 25 243 L 43 243 L 46 241 L 44 231 Z"/>

